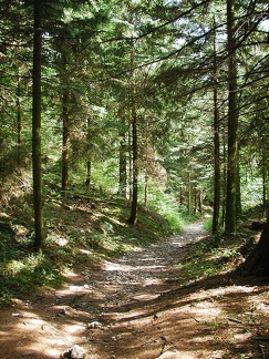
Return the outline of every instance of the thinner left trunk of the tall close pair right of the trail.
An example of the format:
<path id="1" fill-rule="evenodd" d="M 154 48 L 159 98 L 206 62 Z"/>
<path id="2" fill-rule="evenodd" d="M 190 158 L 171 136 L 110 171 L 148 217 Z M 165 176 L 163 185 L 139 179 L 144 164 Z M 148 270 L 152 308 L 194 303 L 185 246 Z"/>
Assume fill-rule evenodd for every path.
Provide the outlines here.
<path id="1" fill-rule="evenodd" d="M 214 28 L 216 23 L 214 21 Z M 219 111 L 218 111 L 218 83 L 217 83 L 217 49 L 216 31 L 214 32 L 214 208 L 213 208 L 213 234 L 219 230 L 220 206 L 220 164 L 219 164 Z"/>

